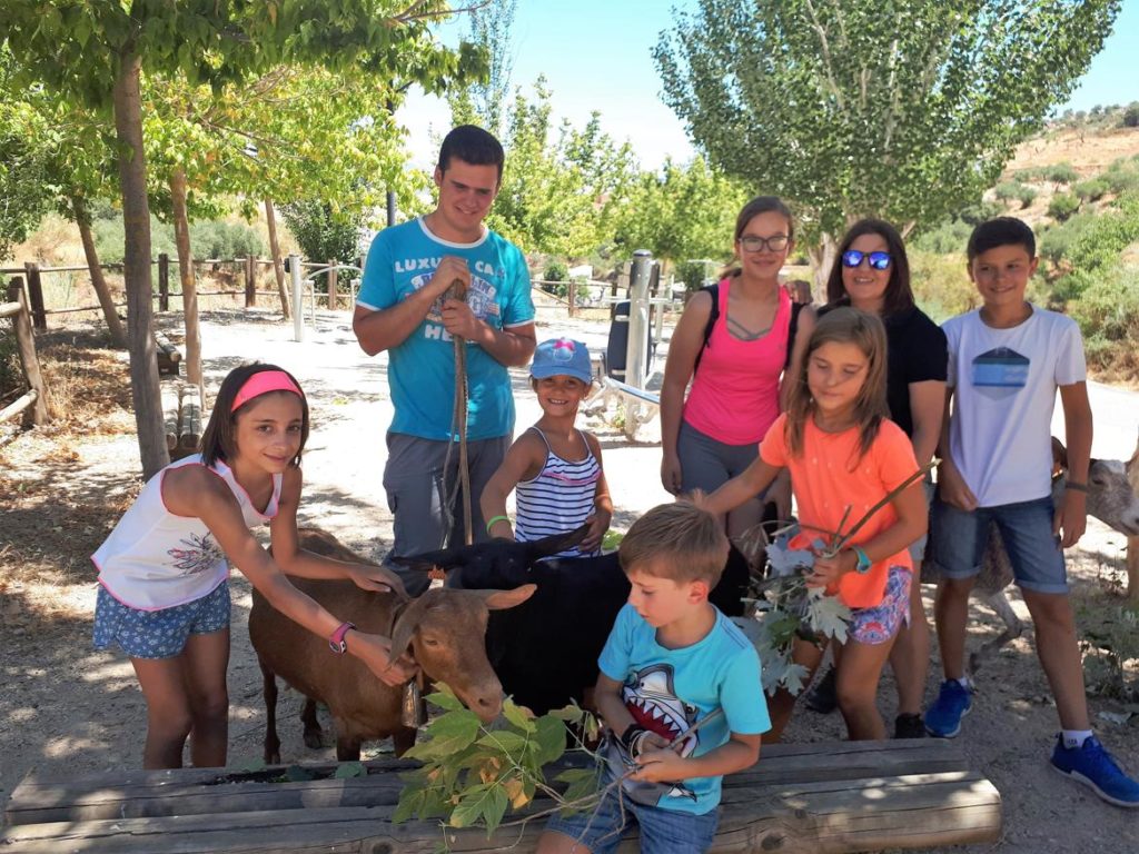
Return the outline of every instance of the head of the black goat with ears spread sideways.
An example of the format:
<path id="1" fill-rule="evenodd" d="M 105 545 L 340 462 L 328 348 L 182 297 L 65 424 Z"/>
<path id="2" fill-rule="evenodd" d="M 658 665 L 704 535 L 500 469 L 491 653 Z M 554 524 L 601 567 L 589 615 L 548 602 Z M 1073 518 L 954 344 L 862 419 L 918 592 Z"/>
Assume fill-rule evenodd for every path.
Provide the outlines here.
<path id="1" fill-rule="evenodd" d="M 467 589 L 507 589 L 530 582 L 530 568 L 535 561 L 572 549 L 585 539 L 589 526 L 566 534 L 554 534 L 528 543 L 494 540 L 474 545 L 452 545 L 439 551 L 392 558 L 411 569 L 428 570 L 440 567 L 444 572 L 460 569 L 462 586 Z"/>

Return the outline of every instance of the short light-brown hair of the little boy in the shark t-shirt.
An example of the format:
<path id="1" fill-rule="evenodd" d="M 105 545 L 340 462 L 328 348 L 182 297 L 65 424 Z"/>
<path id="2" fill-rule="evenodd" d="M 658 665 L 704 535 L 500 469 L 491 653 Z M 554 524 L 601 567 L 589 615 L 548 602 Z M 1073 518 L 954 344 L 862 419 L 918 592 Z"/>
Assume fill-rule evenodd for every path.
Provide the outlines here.
<path id="1" fill-rule="evenodd" d="M 658 504 L 629 528 L 617 550 L 621 568 L 714 588 L 728 560 L 723 525 L 689 501 Z"/>

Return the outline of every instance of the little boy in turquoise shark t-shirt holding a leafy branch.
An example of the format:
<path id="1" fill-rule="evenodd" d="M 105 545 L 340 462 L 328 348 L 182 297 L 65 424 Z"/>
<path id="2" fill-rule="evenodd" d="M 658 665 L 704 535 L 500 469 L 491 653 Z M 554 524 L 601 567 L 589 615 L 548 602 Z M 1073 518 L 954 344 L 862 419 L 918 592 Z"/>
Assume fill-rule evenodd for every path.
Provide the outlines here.
<path id="1" fill-rule="evenodd" d="M 712 845 L 723 775 L 754 765 L 771 729 L 755 648 L 708 602 L 727 556 L 723 525 L 685 501 L 629 528 L 620 557 L 632 590 L 596 689 L 601 785 L 624 778 L 624 797 L 609 789 L 596 811 L 555 816 L 539 854 L 612 852 L 633 822 L 647 854 Z"/>

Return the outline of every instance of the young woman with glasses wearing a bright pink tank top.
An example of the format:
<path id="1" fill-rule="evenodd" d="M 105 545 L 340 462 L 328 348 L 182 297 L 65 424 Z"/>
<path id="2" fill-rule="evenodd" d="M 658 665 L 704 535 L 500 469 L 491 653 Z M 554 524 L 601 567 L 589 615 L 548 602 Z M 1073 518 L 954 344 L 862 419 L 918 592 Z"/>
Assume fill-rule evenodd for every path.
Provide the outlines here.
<path id="1" fill-rule="evenodd" d="M 711 493 L 741 474 L 782 410 L 781 377 L 797 376 L 814 329 L 813 309 L 793 305 L 779 282 L 794 231 L 790 211 L 775 196 L 744 205 L 736 217 L 737 263 L 716 286 L 694 294 L 677 323 L 661 388 L 661 482 L 672 494 Z M 780 518 L 789 514 L 786 479 L 763 499 L 776 502 Z M 762 515 L 755 499 L 732 510 L 728 535 L 743 534 Z"/>

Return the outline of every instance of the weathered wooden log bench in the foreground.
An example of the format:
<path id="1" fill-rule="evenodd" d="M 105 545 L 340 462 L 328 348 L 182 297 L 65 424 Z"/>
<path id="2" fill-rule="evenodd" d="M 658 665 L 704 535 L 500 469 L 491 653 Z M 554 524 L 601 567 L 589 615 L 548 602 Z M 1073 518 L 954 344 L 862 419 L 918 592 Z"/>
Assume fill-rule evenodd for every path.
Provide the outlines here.
<path id="1" fill-rule="evenodd" d="M 318 779 L 277 782 L 286 766 L 122 771 L 82 779 L 30 774 L 13 793 L 0 830 L 5 854 L 90 852 L 435 851 L 432 821 L 394 824 L 399 759 L 364 763 L 366 777 L 335 779 L 335 763 L 303 767 Z M 550 806 L 539 799 L 533 811 Z M 513 816 L 508 815 L 509 821 Z M 448 829 L 452 851 L 534 848 L 544 819 L 524 827 Z M 983 843 L 1000 835 L 1000 795 L 939 739 L 771 745 L 748 771 L 724 780 L 712 848 L 838 854 Z M 620 851 L 639 849 L 636 831 Z"/>

